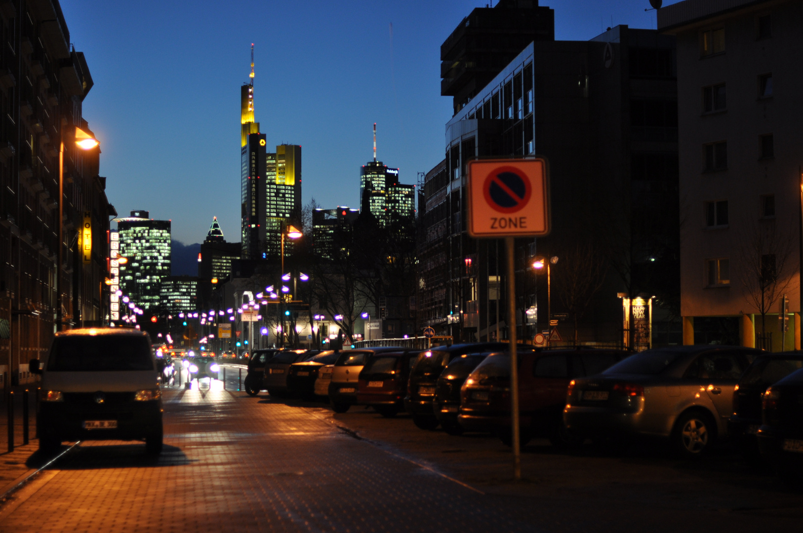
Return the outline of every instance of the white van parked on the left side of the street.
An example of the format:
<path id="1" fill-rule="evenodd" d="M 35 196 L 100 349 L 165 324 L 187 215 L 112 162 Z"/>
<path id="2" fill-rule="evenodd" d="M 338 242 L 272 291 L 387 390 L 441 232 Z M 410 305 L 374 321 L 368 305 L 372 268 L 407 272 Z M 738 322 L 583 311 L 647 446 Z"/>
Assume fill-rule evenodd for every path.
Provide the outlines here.
<path id="1" fill-rule="evenodd" d="M 149 454 L 162 446 L 161 389 L 150 337 L 128 328 L 56 333 L 43 361 L 36 425 L 39 449 L 62 441 L 145 440 Z"/>

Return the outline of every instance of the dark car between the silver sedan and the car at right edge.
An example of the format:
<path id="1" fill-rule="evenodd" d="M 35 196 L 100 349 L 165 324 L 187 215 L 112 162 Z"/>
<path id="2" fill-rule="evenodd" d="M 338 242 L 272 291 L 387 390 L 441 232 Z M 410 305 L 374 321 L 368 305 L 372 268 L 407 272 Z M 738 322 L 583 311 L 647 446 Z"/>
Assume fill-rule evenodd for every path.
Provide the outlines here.
<path id="1" fill-rule="evenodd" d="M 756 433 L 761 425 L 761 401 L 767 388 L 803 368 L 803 352 L 762 353 L 744 372 L 733 392 L 730 434 L 747 457 L 758 454 Z"/>

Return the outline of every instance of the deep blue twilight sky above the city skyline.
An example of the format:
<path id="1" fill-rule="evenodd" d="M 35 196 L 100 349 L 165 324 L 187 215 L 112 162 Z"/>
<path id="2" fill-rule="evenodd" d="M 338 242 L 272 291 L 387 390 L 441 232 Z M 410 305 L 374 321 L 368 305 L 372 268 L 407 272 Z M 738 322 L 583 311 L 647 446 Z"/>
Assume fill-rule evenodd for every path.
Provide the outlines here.
<path id="1" fill-rule="evenodd" d="M 239 241 L 239 95 L 251 43 L 256 120 L 269 146 L 301 144 L 304 204 L 358 207 L 374 122 L 378 159 L 415 183 L 442 159 L 451 117 L 440 45 L 487 2 L 62 0 L 95 81 L 84 118 L 102 143 L 109 201 L 120 215 L 171 219 L 185 243 L 201 242 L 216 215 Z M 555 10 L 556 39 L 591 39 L 612 23 L 655 27 L 648 0 L 540 5 Z"/>

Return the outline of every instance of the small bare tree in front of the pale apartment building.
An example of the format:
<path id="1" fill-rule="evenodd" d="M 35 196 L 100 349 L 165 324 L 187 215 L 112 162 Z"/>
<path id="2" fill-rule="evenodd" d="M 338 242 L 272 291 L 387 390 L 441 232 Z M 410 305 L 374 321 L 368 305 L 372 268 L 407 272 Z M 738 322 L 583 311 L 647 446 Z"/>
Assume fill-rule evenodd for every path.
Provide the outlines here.
<path id="1" fill-rule="evenodd" d="M 744 299 L 761 315 L 761 336 L 766 339 L 767 313 L 785 292 L 796 287 L 794 241 L 777 228 L 774 220 L 755 223 L 745 234 L 747 237 L 740 241 L 739 279 Z M 716 261 L 711 259 L 707 264 L 709 283 L 719 281 L 712 276 L 721 278 Z M 719 270 L 712 272 L 712 268 Z"/>

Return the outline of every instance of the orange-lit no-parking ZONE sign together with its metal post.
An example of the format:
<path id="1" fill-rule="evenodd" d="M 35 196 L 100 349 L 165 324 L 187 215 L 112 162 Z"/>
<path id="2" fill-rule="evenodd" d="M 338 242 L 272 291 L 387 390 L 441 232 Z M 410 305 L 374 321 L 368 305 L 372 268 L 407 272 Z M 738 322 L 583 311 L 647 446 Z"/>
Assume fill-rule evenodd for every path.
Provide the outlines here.
<path id="1" fill-rule="evenodd" d="M 468 234 L 504 238 L 507 249 L 507 323 L 510 340 L 513 478 L 521 478 L 519 361 L 516 331 L 516 237 L 550 230 L 547 162 L 544 159 L 475 160 L 468 163 Z"/>

